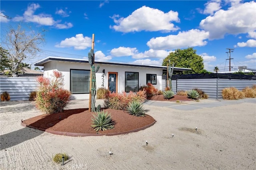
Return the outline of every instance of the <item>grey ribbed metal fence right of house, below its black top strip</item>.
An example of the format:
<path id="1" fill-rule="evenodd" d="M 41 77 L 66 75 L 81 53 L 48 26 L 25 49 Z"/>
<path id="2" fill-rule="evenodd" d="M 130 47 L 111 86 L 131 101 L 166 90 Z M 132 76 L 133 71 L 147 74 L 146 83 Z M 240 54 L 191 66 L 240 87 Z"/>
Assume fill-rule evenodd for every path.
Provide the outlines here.
<path id="1" fill-rule="evenodd" d="M 222 89 L 226 87 L 236 87 L 242 90 L 255 84 L 256 80 L 252 79 L 176 79 L 172 80 L 172 91 L 176 93 L 179 90 L 187 91 L 198 88 L 204 91 L 209 98 L 222 99 Z M 165 90 L 164 85 L 166 85 L 166 80 L 162 79 L 162 91 Z"/>

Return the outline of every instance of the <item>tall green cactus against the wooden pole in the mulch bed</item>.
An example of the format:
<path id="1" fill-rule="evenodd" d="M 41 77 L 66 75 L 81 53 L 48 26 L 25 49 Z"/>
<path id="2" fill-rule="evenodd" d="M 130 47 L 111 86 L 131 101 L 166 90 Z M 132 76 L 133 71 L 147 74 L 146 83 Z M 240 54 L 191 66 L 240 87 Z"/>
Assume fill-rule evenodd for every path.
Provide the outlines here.
<path id="1" fill-rule="evenodd" d="M 91 111 L 95 112 L 95 99 L 96 99 L 96 73 L 99 71 L 100 66 L 98 65 L 96 70 L 95 70 L 95 65 L 94 65 L 94 51 L 93 49 L 91 49 L 91 51 L 88 53 L 88 61 L 91 65 L 92 68 L 92 86 L 91 86 L 91 95 L 92 95 L 92 99 L 91 99 Z"/>

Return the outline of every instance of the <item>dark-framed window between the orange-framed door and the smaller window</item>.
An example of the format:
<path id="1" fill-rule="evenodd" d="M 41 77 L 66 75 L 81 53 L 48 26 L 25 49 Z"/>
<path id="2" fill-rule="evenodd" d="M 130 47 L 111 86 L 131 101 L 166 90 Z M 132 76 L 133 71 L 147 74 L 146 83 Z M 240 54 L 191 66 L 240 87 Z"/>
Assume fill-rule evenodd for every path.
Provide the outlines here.
<path id="1" fill-rule="evenodd" d="M 139 91 L 139 73 L 125 72 L 125 92 Z"/>

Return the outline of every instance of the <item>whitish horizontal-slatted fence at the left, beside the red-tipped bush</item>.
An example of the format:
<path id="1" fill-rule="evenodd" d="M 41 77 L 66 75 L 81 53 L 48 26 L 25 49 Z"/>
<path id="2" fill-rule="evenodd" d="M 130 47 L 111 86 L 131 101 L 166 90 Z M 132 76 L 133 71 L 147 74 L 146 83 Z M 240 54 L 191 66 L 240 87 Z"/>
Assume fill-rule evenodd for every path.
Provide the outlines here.
<path id="1" fill-rule="evenodd" d="M 38 87 L 36 78 L 32 77 L 1 77 L 0 93 L 7 91 L 11 101 L 29 100 L 29 95 Z"/>

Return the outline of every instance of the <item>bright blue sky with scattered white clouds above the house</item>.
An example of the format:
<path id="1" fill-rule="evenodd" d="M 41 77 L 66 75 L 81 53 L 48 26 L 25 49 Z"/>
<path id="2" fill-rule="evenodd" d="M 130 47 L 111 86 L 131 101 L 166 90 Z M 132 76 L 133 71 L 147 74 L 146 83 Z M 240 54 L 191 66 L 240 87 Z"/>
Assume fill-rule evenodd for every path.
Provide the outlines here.
<path id="1" fill-rule="evenodd" d="M 18 23 L 47 30 L 42 52 L 87 59 L 95 36 L 95 60 L 162 65 L 175 49 L 194 47 L 204 67 L 256 69 L 255 1 L 0 1 L 1 37 Z M 2 38 L 1 38 L 2 39 Z M 1 40 L 2 42 L 2 40 Z M 4 44 L 1 43 L 4 47 Z"/>

